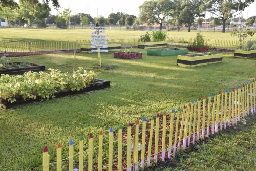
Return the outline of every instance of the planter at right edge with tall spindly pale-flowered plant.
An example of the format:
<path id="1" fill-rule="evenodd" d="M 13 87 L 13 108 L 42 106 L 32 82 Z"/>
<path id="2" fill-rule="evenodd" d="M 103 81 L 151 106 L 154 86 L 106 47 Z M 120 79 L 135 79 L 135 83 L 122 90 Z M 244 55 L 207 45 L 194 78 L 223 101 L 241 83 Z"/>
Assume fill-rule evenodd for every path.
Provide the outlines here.
<path id="1" fill-rule="evenodd" d="M 248 41 L 246 45 L 245 40 L 249 36 L 253 36 L 254 32 L 251 32 L 249 26 L 242 22 L 240 19 L 238 25 L 232 25 L 233 31 L 231 32 L 231 36 L 237 36 L 239 41 L 238 50 L 234 51 L 234 57 L 239 58 L 249 58 L 256 56 L 256 41 Z"/>

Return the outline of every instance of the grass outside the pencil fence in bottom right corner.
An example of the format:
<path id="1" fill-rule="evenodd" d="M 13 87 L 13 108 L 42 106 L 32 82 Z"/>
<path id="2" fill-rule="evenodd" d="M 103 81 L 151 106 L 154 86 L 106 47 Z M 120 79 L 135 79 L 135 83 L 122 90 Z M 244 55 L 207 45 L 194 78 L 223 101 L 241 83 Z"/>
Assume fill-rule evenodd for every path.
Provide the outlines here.
<path id="1" fill-rule="evenodd" d="M 255 170 L 256 115 L 247 118 L 247 125 L 218 133 L 181 151 L 170 161 L 150 170 Z"/>

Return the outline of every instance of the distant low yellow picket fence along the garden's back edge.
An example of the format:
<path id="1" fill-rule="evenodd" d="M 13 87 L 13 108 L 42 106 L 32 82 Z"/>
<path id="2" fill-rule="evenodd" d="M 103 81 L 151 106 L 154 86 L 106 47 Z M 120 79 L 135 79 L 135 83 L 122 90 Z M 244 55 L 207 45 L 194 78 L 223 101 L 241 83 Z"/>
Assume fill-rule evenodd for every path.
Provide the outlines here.
<path id="1" fill-rule="evenodd" d="M 130 39 L 108 39 L 109 44 L 118 43 L 123 47 L 134 47 L 138 45 L 138 38 Z M 169 45 L 189 46 L 193 43 L 193 38 L 167 38 Z M 29 42 L 0 42 L 0 53 L 10 52 L 38 52 L 38 51 L 57 51 L 57 50 L 72 50 L 75 47 L 80 49 L 81 45 L 90 45 L 91 40 L 76 40 L 76 41 L 29 41 Z M 207 45 L 211 48 L 235 50 L 238 48 L 238 41 L 227 40 L 206 40 Z"/>

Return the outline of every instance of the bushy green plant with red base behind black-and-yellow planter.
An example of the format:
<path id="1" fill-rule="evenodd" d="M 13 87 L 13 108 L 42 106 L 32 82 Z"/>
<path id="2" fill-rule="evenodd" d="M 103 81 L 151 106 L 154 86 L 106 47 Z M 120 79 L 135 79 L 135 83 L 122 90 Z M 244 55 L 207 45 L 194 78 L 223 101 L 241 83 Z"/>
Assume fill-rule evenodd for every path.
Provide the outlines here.
<path id="1" fill-rule="evenodd" d="M 197 33 L 194 42 L 187 49 L 189 51 L 206 52 L 209 50 L 209 46 L 205 43 L 203 35 Z"/>

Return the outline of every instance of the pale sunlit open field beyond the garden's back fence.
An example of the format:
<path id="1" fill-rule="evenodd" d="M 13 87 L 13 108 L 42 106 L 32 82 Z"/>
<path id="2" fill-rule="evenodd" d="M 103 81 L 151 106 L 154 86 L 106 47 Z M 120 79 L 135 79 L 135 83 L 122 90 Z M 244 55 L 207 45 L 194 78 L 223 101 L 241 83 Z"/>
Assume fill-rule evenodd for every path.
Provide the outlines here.
<path id="1" fill-rule="evenodd" d="M 0 41 L 74 41 L 90 39 L 91 29 L 35 29 L 35 28 L 0 28 Z M 108 39 L 139 38 L 146 31 L 106 30 Z M 195 38 L 199 31 L 168 31 L 171 38 Z M 238 40 L 229 33 L 201 32 L 206 40 Z M 256 39 L 256 36 L 249 39 Z"/>

